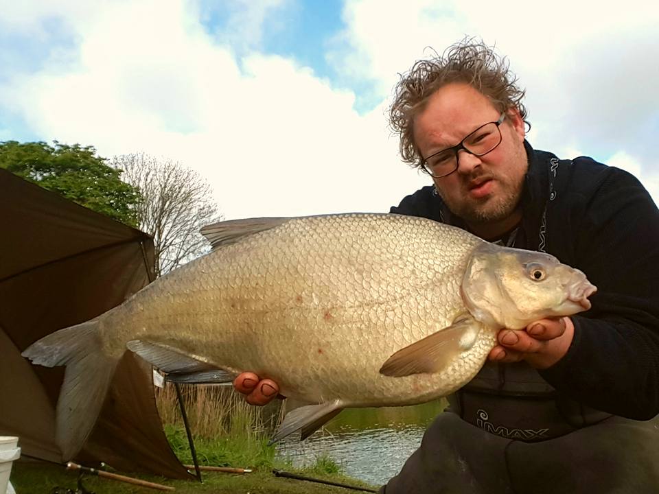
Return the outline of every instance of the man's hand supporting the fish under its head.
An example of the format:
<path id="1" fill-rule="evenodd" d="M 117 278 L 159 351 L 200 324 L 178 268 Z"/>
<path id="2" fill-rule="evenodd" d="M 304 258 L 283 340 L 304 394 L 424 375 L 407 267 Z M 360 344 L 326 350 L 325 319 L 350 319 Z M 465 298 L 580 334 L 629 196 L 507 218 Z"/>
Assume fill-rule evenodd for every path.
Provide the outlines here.
<path id="1" fill-rule="evenodd" d="M 502 329 L 499 344 L 489 352 L 494 362 L 526 360 L 535 368 L 548 368 L 567 353 L 575 335 L 575 325 L 568 317 L 531 322 L 524 329 Z"/>

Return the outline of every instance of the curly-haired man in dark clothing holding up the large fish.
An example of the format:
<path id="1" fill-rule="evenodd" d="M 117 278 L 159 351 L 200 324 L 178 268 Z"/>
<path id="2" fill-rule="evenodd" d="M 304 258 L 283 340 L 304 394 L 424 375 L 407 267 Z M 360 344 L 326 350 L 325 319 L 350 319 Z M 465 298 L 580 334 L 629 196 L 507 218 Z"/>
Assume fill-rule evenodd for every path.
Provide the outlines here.
<path id="1" fill-rule="evenodd" d="M 482 43 L 417 62 L 391 122 L 434 187 L 391 212 L 549 252 L 598 292 L 587 313 L 502 329 L 386 493 L 659 491 L 659 211 L 622 170 L 533 150 L 523 95 Z M 235 388 L 278 390 L 251 373 Z"/>

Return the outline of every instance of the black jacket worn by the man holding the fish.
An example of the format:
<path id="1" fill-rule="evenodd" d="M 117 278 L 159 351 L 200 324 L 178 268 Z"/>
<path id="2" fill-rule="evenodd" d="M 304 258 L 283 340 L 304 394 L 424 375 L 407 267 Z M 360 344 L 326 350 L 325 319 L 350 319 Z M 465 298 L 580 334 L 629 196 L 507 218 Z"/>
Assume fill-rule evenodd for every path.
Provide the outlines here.
<path id="1" fill-rule="evenodd" d="M 572 316 L 575 336 L 562 360 L 544 371 L 501 364 L 528 382 L 516 388 L 498 372 L 495 394 L 546 392 L 629 419 L 651 419 L 659 414 L 659 211 L 643 185 L 621 169 L 583 156 L 558 160 L 524 146 L 529 169 L 515 246 L 578 268 L 597 293 L 589 311 Z M 432 186 L 391 213 L 465 228 Z M 487 373 L 492 364 L 479 376 L 487 379 Z M 478 377 L 472 383 L 478 388 Z"/>

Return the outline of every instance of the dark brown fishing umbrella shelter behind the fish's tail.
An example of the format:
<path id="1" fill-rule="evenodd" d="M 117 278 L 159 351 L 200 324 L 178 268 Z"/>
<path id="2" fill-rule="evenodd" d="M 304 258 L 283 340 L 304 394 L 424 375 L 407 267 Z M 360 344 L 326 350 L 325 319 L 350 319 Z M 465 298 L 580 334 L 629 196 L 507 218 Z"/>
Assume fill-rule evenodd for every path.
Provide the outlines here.
<path id="1" fill-rule="evenodd" d="M 119 305 L 154 279 L 152 239 L 0 169 L 0 435 L 22 455 L 62 462 L 55 407 L 64 368 L 21 352 Z M 127 352 L 76 457 L 124 471 L 190 478 L 163 432 L 149 364 Z"/>

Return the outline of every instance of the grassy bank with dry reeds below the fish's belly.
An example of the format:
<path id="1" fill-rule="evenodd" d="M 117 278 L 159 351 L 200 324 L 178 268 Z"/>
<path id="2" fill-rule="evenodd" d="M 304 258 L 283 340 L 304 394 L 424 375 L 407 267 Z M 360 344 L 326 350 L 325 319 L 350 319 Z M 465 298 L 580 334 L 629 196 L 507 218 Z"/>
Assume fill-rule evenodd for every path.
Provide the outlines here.
<path id="1" fill-rule="evenodd" d="M 272 471 L 279 469 L 333 482 L 367 486 L 343 475 L 338 464 L 328 456 L 315 458 L 304 469 L 293 469 L 286 458 L 279 458 L 276 447 L 268 445 L 268 438 L 279 421 L 279 402 L 268 407 L 253 407 L 247 405 L 231 387 L 224 386 L 182 386 L 182 395 L 199 463 L 253 469 L 253 473 L 203 472 L 203 484 L 194 480 L 176 481 L 139 475 L 143 480 L 173 486 L 176 492 L 183 494 L 348 492 L 340 487 L 277 478 Z M 183 464 L 192 464 L 176 392 L 171 384 L 157 390 L 157 403 L 174 453 Z M 51 493 L 56 486 L 62 488 L 61 493 L 65 494 L 67 489 L 76 491 L 77 479 L 77 473 L 46 463 L 20 462 L 14 464 L 12 471 L 12 483 L 18 494 Z M 83 484 L 96 494 L 158 492 L 89 475 L 84 476 Z"/>

